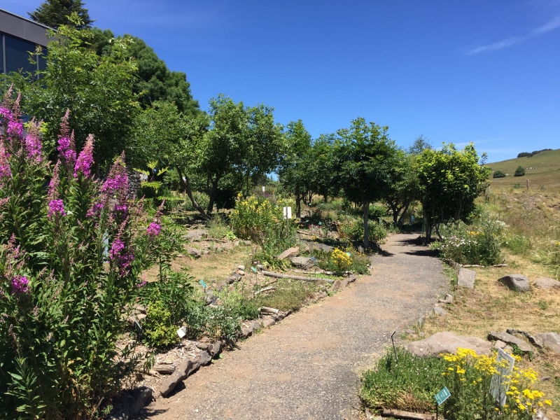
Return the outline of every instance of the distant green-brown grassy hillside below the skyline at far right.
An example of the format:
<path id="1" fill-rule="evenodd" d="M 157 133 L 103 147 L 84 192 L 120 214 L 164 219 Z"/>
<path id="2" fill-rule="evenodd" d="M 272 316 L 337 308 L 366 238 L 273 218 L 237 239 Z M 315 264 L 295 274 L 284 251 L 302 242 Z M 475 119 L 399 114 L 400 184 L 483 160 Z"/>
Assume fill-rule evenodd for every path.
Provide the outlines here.
<path id="1" fill-rule="evenodd" d="M 515 158 L 493 162 L 489 163 L 488 166 L 492 168 L 492 171 L 500 170 L 509 174 L 505 178 L 491 178 L 492 186 L 512 187 L 516 183 L 519 183 L 520 186 L 526 186 L 526 179 L 531 182 L 531 188 L 560 186 L 560 149 L 541 152 L 531 158 Z M 525 169 L 525 176 L 514 177 L 515 169 L 519 166 Z"/>

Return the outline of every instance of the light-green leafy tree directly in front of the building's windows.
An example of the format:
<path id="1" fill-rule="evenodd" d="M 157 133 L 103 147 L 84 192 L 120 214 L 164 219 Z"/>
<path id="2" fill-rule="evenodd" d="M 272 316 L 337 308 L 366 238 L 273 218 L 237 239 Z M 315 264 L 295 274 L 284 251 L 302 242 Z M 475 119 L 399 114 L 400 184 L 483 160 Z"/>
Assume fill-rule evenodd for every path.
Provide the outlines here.
<path id="1" fill-rule="evenodd" d="M 73 22 L 80 20 L 73 14 Z M 47 67 L 38 80 L 33 75 L 15 74 L 11 80 L 22 92 L 27 115 L 45 121 L 45 148 L 52 153 L 57 140 L 57 122 L 69 110 L 69 125 L 76 146 L 83 147 L 94 134 L 97 174 L 109 167 L 113 158 L 129 146 L 134 117 L 139 109 L 133 92 L 137 65 L 127 58 L 129 42 L 111 43 L 108 54 L 99 57 L 87 46 L 90 29 L 62 25 L 49 31 L 55 41 L 49 43 Z"/>

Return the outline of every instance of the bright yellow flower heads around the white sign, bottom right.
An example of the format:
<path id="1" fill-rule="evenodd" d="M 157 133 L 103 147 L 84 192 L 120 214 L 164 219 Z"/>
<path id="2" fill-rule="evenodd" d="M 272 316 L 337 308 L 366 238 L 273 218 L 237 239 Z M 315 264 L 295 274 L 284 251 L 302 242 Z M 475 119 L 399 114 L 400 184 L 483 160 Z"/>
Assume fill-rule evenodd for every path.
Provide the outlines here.
<path id="1" fill-rule="evenodd" d="M 504 413 L 524 412 L 533 414 L 538 407 L 552 405 L 551 400 L 544 400 L 545 393 L 537 389 L 531 389 L 531 384 L 538 381 L 538 374 L 531 368 L 520 370 L 514 367 L 511 374 L 501 374 L 503 367 L 507 367 L 507 361 L 501 364 L 496 356 L 478 355 L 471 349 L 458 348 L 456 354 L 442 355 L 448 362 L 448 367 L 443 376 L 451 376 L 462 386 L 472 386 L 475 393 L 489 392 L 491 379 L 494 375 L 500 375 L 500 382 L 506 388 L 507 404 L 501 408 Z M 514 356 L 519 360 L 519 357 Z M 507 370 L 506 370 L 507 371 Z M 451 391 L 453 392 L 453 391 Z M 509 418 L 509 417 L 508 417 Z"/>

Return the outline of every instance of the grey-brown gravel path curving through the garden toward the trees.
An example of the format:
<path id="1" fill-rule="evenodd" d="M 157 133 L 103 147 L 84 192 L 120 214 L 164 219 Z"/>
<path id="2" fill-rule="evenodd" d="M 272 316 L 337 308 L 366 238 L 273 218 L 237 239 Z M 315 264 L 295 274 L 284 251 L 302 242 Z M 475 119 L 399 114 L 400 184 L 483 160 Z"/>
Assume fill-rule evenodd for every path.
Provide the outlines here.
<path id="1" fill-rule="evenodd" d="M 360 372 L 397 326 L 426 314 L 449 285 L 416 237 L 391 237 L 371 276 L 225 353 L 153 402 L 144 418 L 355 419 Z"/>

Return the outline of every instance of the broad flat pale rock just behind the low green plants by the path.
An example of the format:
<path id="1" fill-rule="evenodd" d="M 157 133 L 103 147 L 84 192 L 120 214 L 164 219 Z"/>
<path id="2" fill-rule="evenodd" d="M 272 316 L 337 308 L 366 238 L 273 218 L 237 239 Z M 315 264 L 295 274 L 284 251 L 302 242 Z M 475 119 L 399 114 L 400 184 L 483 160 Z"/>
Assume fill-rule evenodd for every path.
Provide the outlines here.
<path id="1" fill-rule="evenodd" d="M 407 344 L 407 349 L 416 356 L 438 356 L 440 353 L 455 353 L 458 347 L 472 349 L 477 354 L 491 354 L 491 344 L 478 337 L 463 337 L 449 331 L 436 334 Z"/>

